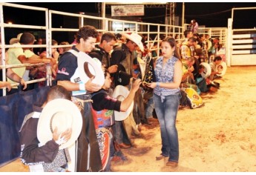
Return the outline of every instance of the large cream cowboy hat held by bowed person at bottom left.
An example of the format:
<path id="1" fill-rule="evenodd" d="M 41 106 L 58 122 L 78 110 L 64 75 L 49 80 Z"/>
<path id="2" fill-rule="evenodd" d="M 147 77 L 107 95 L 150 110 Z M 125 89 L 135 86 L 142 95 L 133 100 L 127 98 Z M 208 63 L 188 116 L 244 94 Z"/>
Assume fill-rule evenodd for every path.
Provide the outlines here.
<path id="1" fill-rule="evenodd" d="M 37 125 L 37 138 L 42 145 L 53 139 L 53 131 L 58 133 L 72 129 L 68 142 L 59 146 L 59 149 L 68 148 L 76 142 L 82 130 L 82 115 L 79 108 L 68 99 L 53 99 L 45 105 Z"/>

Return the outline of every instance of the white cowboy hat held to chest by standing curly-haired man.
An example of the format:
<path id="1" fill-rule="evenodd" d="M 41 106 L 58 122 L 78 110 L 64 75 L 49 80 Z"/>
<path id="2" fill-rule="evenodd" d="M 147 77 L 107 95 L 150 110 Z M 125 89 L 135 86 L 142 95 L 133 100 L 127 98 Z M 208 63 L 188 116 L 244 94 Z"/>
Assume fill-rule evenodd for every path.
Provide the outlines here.
<path id="1" fill-rule="evenodd" d="M 77 65 L 82 82 L 86 83 L 91 76 L 94 76 L 93 83 L 101 86 L 104 85 L 105 76 L 99 59 L 92 59 L 88 54 L 79 52 L 77 55 Z"/>

